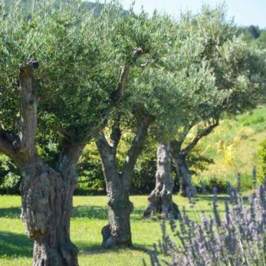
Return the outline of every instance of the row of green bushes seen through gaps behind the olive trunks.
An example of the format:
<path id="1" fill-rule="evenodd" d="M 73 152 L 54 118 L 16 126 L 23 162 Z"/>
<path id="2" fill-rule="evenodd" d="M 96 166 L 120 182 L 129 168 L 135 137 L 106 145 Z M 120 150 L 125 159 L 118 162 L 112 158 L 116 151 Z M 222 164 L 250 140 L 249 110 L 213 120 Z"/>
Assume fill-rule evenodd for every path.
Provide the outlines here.
<path id="1" fill-rule="evenodd" d="M 56 141 L 55 139 L 51 139 L 50 135 L 45 132 L 45 130 L 41 132 L 43 134 L 43 141 L 41 145 L 38 146 L 38 153 L 40 153 L 41 157 L 48 165 L 56 167 L 56 155 L 58 151 L 58 146 L 55 144 Z M 120 148 L 121 151 L 118 151 L 118 167 L 123 165 L 126 156 L 124 153 L 128 149 L 127 145 L 128 144 L 124 141 L 122 148 Z M 153 143 L 147 145 L 139 157 L 132 174 L 132 194 L 148 194 L 155 188 L 155 174 L 157 169 L 156 148 L 157 144 Z M 203 169 L 206 169 L 207 165 L 212 162 L 211 159 L 202 155 L 202 151 L 197 147 L 190 153 L 187 160 L 188 167 L 190 167 L 192 174 L 198 174 Z M 75 190 L 76 195 L 105 192 L 106 184 L 102 172 L 102 162 L 94 143 L 87 145 L 83 151 L 83 155 L 78 162 L 77 172 L 79 180 Z M 180 185 L 173 162 L 172 176 L 174 179 L 173 193 L 177 193 Z M 13 165 L 8 157 L 0 155 L 0 193 L 19 194 L 21 180 L 22 178 L 20 177 L 18 168 Z"/>

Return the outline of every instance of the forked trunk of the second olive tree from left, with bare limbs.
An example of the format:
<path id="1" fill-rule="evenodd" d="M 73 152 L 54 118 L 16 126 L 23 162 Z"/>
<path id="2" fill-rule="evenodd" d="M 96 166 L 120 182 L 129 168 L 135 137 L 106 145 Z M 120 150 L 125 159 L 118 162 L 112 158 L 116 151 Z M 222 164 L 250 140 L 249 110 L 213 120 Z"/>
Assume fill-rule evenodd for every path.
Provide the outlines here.
<path id="1" fill-rule="evenodd" d="M 148 126 L 154 120 L 151 116 L 137 116 L 137 133 L 121 172 L 118 171 L 116 152 L 121 132 L 119 123 L 115 123 L 111 132 L 109 144 L 103 133 L 96 141 L 102 159 L 104 178 L 106 180 L 109 223 L 102 228 L 103 246 L 106 248 L 132 246 L 130 214 L 134 205 L 130 202 L 130 186 L 132 172 L 139 154 L 144 147 Z"/>

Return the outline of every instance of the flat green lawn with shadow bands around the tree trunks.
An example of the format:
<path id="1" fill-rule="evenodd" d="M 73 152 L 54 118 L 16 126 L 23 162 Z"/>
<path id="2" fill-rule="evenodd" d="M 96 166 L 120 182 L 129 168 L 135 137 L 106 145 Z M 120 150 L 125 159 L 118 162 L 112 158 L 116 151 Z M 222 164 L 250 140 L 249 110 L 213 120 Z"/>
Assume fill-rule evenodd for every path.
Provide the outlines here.
<path id="1" fill-rule="evenodd" d="M 219 196 L 223 210 L 223 197 Z M 107 222 L 105 196 L 75 196 L 71 219 L 71 239 L 79 248 L 80 266 L 85 265 L 142 265 L 143 258 L 149 262 L 146 248 L 152 248 L 161 237 L 160 221 L 143 220 L 141 214 L 146 207 L 147 196 L 132 196 L 132 239 L 134 248 L 106 250 L 102 248 L 101 229 Z M 174 196 L 179 207 L 186 206 L 195 219 L 200 211 L 211 212 L 211 195 L 200 196 L 195 207 L 189 207 L 187 199 Z M 20 220 L 20 197 L 0 196 L 0 265 L 31 265 L 33 241 L 25 235 Z M 191 217 L 190 216 L 190 217 Z"/>

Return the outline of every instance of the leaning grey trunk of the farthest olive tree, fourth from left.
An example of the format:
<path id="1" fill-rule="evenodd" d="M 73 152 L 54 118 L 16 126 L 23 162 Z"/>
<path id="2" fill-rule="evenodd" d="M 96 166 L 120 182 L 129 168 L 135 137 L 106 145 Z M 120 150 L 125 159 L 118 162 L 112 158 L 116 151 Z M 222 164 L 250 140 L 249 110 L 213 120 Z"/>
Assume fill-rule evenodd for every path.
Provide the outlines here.
<path id="1" fill-rule="evenodd" d="M 171 141 L 171 153 L 174 159 L 176 172 L 179 176 L 180 195 L 187 197 L 188 193 L 190 193 L 191 197 L 195 197 L 197 195 L 197 190 L 191 183 L 190 172 L 186 165 L 186 154 L 182 154 L 181 143 L 179 141 Z"/>

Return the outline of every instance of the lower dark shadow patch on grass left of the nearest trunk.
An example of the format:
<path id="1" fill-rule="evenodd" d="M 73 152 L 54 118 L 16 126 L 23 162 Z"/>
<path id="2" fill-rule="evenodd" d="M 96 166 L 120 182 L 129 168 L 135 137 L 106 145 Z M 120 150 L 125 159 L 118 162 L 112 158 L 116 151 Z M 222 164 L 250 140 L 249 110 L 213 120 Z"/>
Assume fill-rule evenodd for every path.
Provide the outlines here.
<path id="1" fill-rule="evenodd" d="M 26 235 L 13 232 L 0 232 L 0 257 L 32 257 L 33 241 Z"/>

